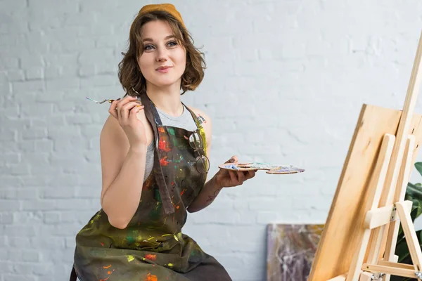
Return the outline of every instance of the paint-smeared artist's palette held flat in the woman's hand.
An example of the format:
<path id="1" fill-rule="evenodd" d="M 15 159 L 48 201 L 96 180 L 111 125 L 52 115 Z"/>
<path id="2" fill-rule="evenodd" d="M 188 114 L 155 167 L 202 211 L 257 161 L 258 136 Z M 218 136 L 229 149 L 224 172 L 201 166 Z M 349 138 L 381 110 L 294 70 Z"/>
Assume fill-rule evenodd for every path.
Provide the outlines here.
<path id="1" fill-rule="evenodd" d="M 267 174 L 297 174 L 305 171 L 305 169 L 300 169 L 292 165 L 276 165 L 259 162 L 224 163 L 218 167 L 231 171 L 267 170 Z"/>

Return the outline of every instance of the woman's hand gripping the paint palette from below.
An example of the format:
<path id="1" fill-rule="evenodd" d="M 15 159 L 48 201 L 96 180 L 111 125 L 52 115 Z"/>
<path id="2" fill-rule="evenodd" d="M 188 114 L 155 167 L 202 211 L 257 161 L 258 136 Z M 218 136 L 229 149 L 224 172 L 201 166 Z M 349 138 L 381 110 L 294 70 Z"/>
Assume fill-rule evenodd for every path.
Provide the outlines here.
<path id="1" fill-rule="evenodd" d="M 226 163 L 237 163 L 238 158 L 236 156 L 231 157 Z M 215 179 L 217 185 L 222 188 L 229 188 L 232 186 L 237 186 L 243 184 L 244 181 L 247 181 L 250 178 L 255 176 L 255 171 L 231 171 L 226 169 L 219 169 L 217 174 L 215 174 Z"/>

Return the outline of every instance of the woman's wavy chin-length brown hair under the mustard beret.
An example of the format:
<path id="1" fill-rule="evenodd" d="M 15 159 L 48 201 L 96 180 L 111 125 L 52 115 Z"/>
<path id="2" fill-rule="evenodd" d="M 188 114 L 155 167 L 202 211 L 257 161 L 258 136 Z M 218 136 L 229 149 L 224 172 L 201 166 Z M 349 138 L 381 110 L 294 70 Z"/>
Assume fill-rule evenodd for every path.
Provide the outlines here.
<path id="1" fill-rule="evenodd" d="M 154 20 L 167 21 L 172 28 L 172 32 L 178 44 L 186 49 L 186 69 L 181 76 L 180 89 L 183 91 L 195 90 L 204 78 L 205 60 L 204 53 L 193 46 L 193 39 L 188 30 L 181 25 L 179 20 L 165 11 L 153 11 L 137 15 L 132 22 L 129 33 L 129 48 L 119 63 L 119 80 L 126 94 L 124 96 L 140 96 L 146 93 L 146 79 L 139 69 L 138 60 L 143 53 L 143 41 L 141 37 L 141 27 L 147 22 Z"/>

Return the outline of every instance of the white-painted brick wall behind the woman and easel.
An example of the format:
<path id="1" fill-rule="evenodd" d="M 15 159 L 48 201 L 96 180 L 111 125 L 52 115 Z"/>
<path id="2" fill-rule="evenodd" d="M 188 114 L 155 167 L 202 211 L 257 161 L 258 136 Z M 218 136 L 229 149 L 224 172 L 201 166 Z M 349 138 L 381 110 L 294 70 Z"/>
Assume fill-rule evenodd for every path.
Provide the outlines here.
<path id="1" fill-rule="evenodd" d="M 100 207 L 108 105 L 85 96 L 122 95 L 120 52 L 151 2 L 0 0 L 0 281 L 68 280 Z M 422 1 L 170 2 L 206 54 L 183 99 L 214 119 L 211 173 L 235 154 L 307 169 L 261 172 L 188 218 L 234 280 L 264 280 L 267 223 L 325 221 L 362 103 L 402 108 Z"/>

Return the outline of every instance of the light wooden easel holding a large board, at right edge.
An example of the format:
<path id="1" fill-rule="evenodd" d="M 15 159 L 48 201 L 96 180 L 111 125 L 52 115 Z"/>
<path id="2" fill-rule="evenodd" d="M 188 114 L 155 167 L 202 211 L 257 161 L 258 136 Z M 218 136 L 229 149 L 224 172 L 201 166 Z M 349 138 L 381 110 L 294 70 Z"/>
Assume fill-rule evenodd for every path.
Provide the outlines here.
<path id="1" fill-rule="evenodd" d="M 403 201 L 422 140 L 422 116 L 413 114 L 421 67 L 422 33 L 403 110 L 362 107 L 309 281 L 422 280 L 412 203 Z M 397 263 L 400 222 L 413 265 Z"/>

